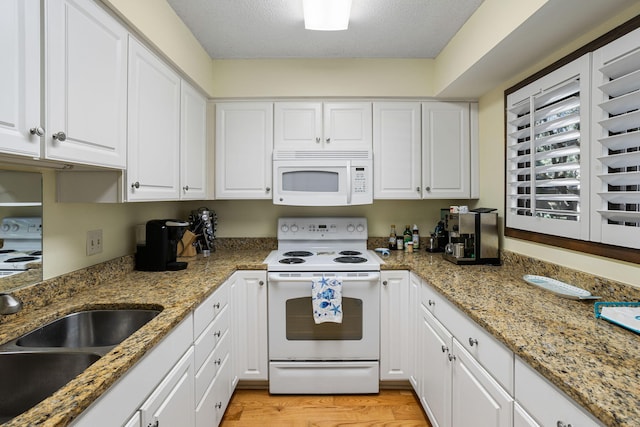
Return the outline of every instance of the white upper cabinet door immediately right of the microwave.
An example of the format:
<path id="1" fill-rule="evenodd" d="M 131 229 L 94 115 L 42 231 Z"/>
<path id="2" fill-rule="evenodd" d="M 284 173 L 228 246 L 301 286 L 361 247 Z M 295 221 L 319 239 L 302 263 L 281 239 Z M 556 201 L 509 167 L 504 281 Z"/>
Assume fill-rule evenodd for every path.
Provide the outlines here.
<path id="1" fill-rule="evenodd" d="M 373 104 L 373 197 L 422 198 L 419 102 Z"/>

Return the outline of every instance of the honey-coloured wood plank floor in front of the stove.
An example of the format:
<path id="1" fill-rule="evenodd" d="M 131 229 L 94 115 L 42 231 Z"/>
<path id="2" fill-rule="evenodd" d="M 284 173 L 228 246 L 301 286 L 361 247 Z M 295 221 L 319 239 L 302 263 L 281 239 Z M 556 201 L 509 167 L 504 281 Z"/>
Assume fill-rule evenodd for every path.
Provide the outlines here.
<path id="1" fill-rule="evenodd" d="M 378 395 L 270 395 L 237 389 L 221 427 L 431 427 L 410 390 Z"/>

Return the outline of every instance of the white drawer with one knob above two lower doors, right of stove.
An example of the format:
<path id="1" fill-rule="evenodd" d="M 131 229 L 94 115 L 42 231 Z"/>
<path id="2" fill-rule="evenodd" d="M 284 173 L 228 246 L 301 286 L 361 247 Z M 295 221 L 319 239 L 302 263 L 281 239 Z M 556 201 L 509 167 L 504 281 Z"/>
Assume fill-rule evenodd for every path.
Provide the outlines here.
<path id="1" fill-rule="evenodd" d="M 495 339 L 464 313 L 448 303 L 440 321 L 489 373 L 513 396 L 513 360 L 511 350 Z"/>

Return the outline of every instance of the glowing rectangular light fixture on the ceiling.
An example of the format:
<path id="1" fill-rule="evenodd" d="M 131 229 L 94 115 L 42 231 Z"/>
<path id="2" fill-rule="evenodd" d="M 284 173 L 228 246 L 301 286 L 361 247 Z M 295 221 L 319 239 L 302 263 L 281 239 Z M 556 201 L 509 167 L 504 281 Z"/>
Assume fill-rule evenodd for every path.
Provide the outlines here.
<path id="1" fill-rule="evenodd" d="M 341 31 L 349 28 L 351 0 L 303 0 L 304 28 Z"/>

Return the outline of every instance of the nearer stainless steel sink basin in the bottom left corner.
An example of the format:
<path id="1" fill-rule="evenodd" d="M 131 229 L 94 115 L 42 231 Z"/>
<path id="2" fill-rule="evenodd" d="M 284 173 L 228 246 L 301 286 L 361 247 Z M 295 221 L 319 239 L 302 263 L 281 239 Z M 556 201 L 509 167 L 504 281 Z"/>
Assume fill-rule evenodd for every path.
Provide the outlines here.
<path id="1" fill-rule="evenodd" d="M 0 423 L 35 406 L 99 358 L 92 353 L 0 353 Z"/>

